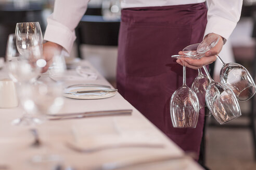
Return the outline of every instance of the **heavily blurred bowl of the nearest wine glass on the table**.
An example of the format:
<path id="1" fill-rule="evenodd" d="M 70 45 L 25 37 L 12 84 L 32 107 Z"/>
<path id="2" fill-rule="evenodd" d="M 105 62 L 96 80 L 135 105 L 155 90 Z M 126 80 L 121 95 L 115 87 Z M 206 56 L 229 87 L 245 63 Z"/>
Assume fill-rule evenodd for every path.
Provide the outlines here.
<path id="1" fill-rule="evenodd" d="M 20 86 L 20 103 L 26 114 L 25 125 L 41 124 L 47 114 L 55 114 L 63 106 L 62 84 L 48 79 Z"/>

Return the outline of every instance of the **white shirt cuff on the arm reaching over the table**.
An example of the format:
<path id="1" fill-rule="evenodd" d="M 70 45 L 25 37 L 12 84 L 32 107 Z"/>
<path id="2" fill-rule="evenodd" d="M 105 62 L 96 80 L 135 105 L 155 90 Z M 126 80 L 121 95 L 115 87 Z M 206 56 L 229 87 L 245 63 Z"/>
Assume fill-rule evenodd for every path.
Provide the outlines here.
<path id="1" fill-rule="evenodd" d="M 70 53 L 76 38 L 75 32 L 70 31 L 68 27 L 51 18 L 48 18 L 47 22 L 44 40 L 56 43 Z"/>

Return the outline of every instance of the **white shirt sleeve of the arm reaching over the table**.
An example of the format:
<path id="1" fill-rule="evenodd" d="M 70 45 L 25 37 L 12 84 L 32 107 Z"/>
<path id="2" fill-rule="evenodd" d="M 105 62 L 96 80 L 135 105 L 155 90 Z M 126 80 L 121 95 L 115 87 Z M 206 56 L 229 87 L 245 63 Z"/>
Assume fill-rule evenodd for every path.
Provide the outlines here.
<path id="1" fill-rule="evenodd" d="M 70 53 L 75 27 L 83 17 L 89 0 L 55 0 L 54 11 L 47 18 L 44 40 L 61 45 Z"/>

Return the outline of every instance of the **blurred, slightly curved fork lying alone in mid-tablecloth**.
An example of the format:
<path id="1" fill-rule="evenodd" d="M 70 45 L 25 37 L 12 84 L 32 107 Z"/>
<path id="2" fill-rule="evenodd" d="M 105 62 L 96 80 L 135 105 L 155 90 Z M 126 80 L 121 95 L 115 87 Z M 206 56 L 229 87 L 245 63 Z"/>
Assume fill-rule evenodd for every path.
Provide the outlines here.
<path id="1" fill-rule="evenodd" d="M 110 144 L 94 148 L 80 148 L 71 143 L 66 143 L 66 146 L 76 152 L 93 153 L 101 150 L 117 149 L 117 148 L 164 148 L 163 144 L 147 144 L 147 143 L 123 143 L 123 144 Z"/>

